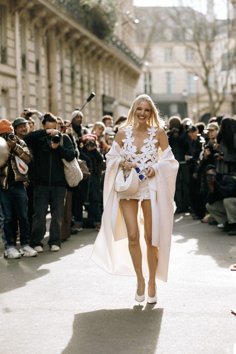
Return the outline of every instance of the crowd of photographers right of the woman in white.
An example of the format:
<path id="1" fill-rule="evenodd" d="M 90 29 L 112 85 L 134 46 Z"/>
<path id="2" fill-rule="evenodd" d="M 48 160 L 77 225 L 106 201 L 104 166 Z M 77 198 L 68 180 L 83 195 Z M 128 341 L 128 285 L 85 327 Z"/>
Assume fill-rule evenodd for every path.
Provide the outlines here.
<path id="1" fill-rule="evenodd" d="M 194 124 L 168 120 L 169 144 L 179 161 L 176 213 L 236 235 L 236 119 L 226 115 Z"/>

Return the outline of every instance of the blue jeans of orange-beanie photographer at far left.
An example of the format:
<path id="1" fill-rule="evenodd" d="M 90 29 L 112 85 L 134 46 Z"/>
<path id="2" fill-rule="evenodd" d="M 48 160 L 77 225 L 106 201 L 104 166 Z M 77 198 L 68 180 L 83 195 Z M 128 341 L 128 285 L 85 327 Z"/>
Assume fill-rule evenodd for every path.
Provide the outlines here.
<path id="1" fill-rule="evenodd" d="M 29 223 L 27 216 L 28 198 L 22 185 L 9 186 L 8 189 L 0 189 L 0 204 L 4 217 L 3 229 L 6 240 L 5 248 L 14 246 L 15 239 L 12 234 L 12 210 L 15 207 L 16 218 L 19 222 L 20 244 L 24 247 L 29 244 Z"/>

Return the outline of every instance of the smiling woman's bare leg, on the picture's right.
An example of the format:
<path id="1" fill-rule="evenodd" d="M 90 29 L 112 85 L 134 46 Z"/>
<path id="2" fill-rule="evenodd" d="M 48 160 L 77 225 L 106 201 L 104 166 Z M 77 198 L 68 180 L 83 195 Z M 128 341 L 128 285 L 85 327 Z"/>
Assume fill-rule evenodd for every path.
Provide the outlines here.
<path id="1" fill-rule="evenodd" d="M 157 267 L 157 251 L 158 248 L 152 246 L 152 220 L 151 220 L 151 201 L 144 199 L 141 202 L 143 219 L 144 219 L 144 237 L 147 244 L 147 263 L 149 269 L 148 281 L 148 295 L 155 296 L 155 282 L 156 282 L 156 267 Z"/>

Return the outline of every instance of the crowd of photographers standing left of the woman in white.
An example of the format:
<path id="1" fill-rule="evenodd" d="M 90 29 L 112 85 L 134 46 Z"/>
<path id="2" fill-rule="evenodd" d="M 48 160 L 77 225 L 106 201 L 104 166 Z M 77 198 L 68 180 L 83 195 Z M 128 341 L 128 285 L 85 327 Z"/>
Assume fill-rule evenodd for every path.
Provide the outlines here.
<path id="1" fill-rule="evenodd" d="M 43 252 L 49 211 L 51 251 L 59 251 L 61 243 L 84 226 L 100 230 L 105 154 L 125 119 L 119 117 L 114 126 L 113 117 L 104 116 L 85 127 L 79 110 L 72 112 L 71 120 L 63 120 L 25 109 L 12 124 L 0 120 L 0 229 L 5 258 Z M 83 179 L 69 187 L 64 163 L 74 159 Z"/>

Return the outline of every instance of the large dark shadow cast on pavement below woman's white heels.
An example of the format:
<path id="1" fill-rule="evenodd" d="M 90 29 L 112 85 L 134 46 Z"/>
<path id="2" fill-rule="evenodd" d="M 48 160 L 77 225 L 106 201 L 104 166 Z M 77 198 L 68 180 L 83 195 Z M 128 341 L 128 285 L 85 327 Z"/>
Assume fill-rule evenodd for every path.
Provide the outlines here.
<path id="1" fill-rule="evenodd" d="M 153 354 L 162 308 L 98 310 L 75 315 L 73 336 L 62 354 Z"/>

